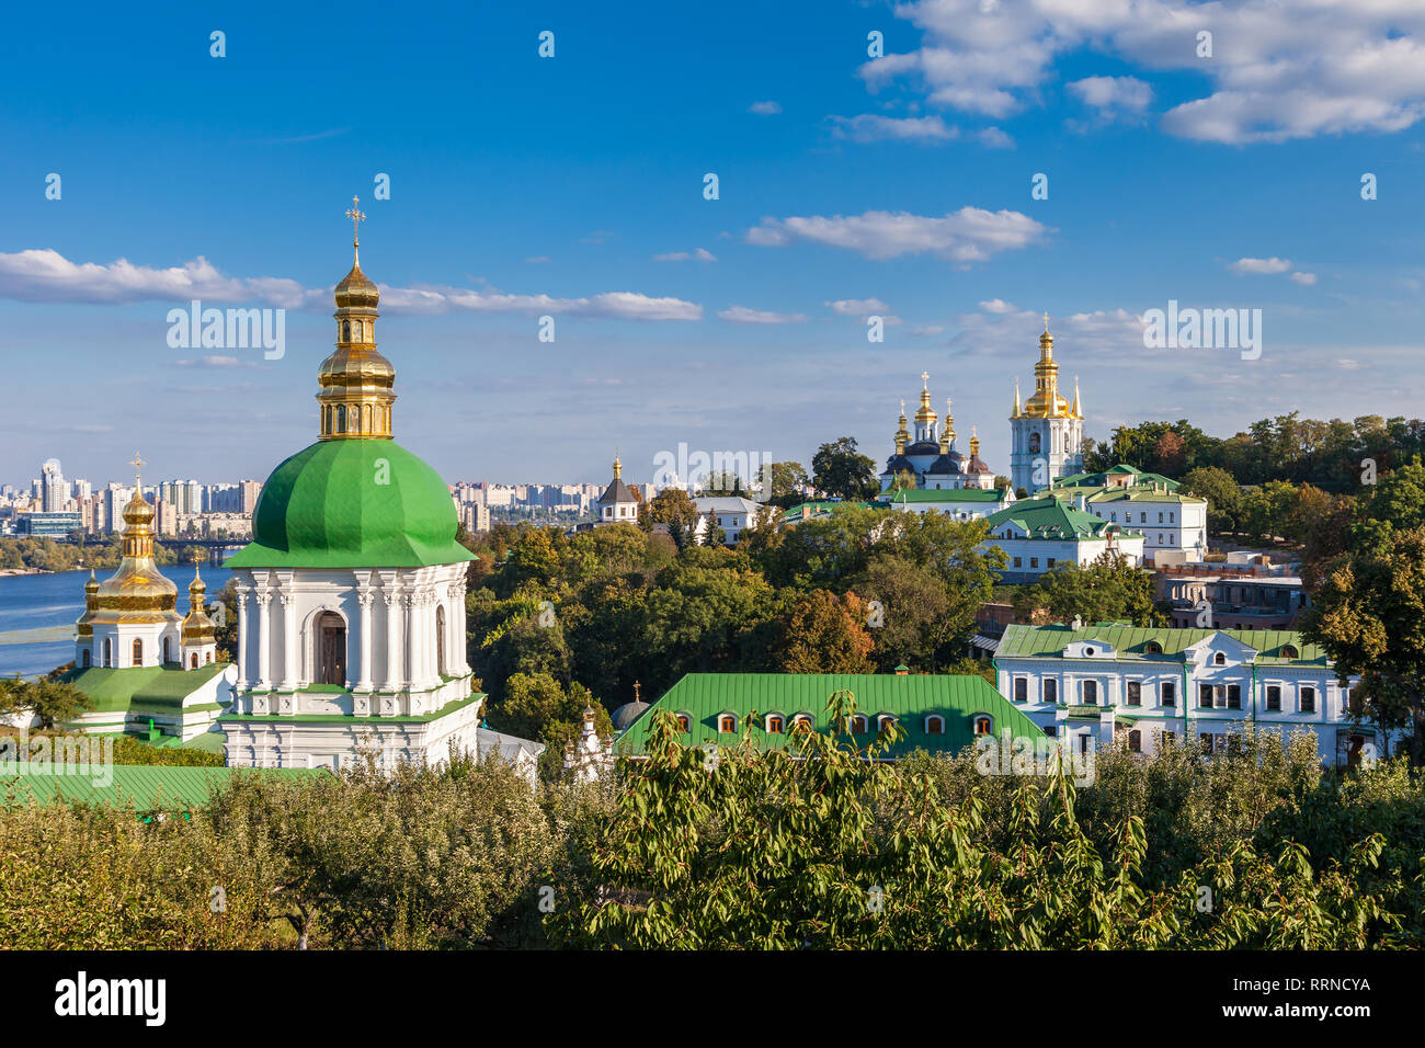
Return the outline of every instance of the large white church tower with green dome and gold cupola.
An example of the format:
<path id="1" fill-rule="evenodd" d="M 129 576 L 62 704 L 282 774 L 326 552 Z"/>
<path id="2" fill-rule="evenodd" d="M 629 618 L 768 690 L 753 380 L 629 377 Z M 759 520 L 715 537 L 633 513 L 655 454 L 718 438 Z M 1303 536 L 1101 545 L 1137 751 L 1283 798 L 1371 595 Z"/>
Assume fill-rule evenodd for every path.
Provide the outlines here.
<path id="1" fill-rule="evenodd" d="M 252 542 L 227 562 L 239 635 L 218 721 L 229 766 L 477 751 L 484 696 L 465 654 L 475 556 L 455 540 L 449 488 L 392 439 L 395 368 L 376 349 L 379 292 L 359 254 L 335 299 L 318 439 L 268 478 Z"/>

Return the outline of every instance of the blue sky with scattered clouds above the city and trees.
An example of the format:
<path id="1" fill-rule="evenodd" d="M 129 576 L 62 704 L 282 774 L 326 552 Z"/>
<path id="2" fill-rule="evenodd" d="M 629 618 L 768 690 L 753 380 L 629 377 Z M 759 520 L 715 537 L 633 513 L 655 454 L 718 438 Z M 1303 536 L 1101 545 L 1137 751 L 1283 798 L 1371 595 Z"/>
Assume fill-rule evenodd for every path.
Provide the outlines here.
<path id="1" fill-rule="evenodd" d="M 17 9 L 0 479 L 118 479 L 134 448 L 262 478 L 315 439 L 353 194 L 396 436 L 449 481 L 604 481 L 616 448 L 647 479 L 680 442 L 884 461 L 922 371 L 1007 472 L 1046 311 L 1090 436 L 1419 415 L 1425 9 Z M 170 348 L 192 298 L 285 308 L 285 356 Z M 1260 308 L 1261 358 L 1144 349 L 1168 299 Z"/>

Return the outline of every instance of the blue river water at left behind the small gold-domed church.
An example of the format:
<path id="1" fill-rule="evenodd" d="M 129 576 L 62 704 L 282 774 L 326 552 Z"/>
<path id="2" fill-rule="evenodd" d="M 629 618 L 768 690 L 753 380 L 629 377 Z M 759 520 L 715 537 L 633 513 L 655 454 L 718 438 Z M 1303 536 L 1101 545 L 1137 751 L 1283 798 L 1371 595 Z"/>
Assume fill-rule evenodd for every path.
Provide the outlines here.
<path id="1" fill-rule="evenodd" d="M 94 577 L 103 582 L 115 570 L 115 567 L 104 567 Z M 178 586 L 178 613 L 187 615 L 192 565 L 164 565 L 158 570 Z M 228 582 L 228 576 L 227 567 L 204 566 L 202 580 L 208 583 L 209 603 Z M 0 635 L 43 626 L 73 626 L 74 620 L 84 613 L 84 582 L 87 579 L 88 570 L 0 577 Z M 0 676 L 10 677 L 20 673 L 33 677 L 48 673 L 73 657 L 73 639 L 21 644 L 0 643 Z"/>

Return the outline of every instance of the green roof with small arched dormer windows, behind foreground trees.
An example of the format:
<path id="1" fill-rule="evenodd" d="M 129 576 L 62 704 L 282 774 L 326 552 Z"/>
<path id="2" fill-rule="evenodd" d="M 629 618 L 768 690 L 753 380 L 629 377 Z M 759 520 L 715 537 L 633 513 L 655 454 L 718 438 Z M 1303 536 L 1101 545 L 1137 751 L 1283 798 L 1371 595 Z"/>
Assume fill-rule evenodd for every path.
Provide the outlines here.
<path id="1" fill-rule="evenodd" d="M 889 751 L 903 757 L 915 750 L 959 753 L 975 741 L 973 717 L 988 713 L 996 734 L 1009 729 L 1015 737 L 1043 737 L 1043 731 L 1029 717 L 1012 706 L 985 677 L 950 674 L 898 673 L 688 673 L 644 710 L 618 736 L 620 753 L 643 753 L 653 714 L 657 710 L 685 713 L 691 721 L 691 741 L 710 739 L 735 744 L 741 739 L 745 719 L 755 711 L 752 741 L 762 749 L 785 749 L 795 743 L 791 719 L 798 713 L 811 714 L 818 731 L 829 730 L 826 700 L 834 692 L 849 689 L 856 697 L 856 713 L 865 714 L 871 731 L 855 736 L 865 746 L 876 736 L 876 717 L 891 713 L 901 721 L 905 737 Z M 737 714 L 737 733 L 718 733 L 718 714 Z M 765 714 L 779 713 L 785 729 L 765 730 Z M 945 717 L 943 734 L 928 734 L 926 716 Z"/>

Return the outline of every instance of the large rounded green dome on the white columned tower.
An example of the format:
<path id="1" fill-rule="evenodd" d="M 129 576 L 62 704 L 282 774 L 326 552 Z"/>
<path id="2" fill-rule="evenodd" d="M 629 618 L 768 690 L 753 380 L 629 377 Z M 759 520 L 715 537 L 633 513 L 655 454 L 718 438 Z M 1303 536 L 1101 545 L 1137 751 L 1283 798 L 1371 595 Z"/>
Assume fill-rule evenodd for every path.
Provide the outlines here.
<path id="1" fill-rule="evenodd" d="M 228 567 L 420 567 L 475 560 L 439 473 L 395 441 L 318 441 L 272 471 Z"/>

